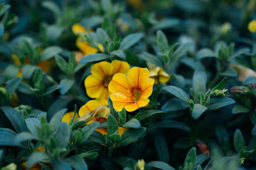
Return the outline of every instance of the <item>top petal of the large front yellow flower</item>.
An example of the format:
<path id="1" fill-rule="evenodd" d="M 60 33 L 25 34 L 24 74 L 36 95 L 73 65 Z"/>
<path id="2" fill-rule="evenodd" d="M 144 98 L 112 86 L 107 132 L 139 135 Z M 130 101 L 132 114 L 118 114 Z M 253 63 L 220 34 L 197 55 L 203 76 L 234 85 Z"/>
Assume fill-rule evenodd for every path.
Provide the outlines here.
<path id="1" fill-rule="evenodd" d="M 131 85 L 137 89 L 146 83 L 149 77 L 149 71 L 146 68 L 132 67 L 127 75 L 128 79 L 131 81 Z"/>

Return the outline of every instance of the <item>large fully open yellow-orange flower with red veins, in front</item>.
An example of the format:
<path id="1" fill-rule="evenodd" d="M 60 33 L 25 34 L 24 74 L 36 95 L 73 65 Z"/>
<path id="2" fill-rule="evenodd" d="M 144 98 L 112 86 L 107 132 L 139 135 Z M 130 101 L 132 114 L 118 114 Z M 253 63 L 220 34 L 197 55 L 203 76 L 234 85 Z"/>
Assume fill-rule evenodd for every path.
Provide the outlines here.
<path id="1" fill-rule="evenodd" d="M 108 85 L 113 94 L 110 99 L 115 110 L 121 111 L 123 107 L 132 112 L 139 107 L 146 106 L 148 97 L 153 91 L 154 79 L 149 78 L 149 71 L 146 68 L 133 67 L 128 75 L 117 73 Z"/>

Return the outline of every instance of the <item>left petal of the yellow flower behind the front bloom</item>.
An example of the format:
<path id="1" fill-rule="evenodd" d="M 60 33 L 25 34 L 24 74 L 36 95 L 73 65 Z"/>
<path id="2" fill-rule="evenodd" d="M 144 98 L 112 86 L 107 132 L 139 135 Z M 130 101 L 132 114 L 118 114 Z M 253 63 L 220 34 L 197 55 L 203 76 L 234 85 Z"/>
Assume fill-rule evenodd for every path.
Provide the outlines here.
<path id="1" fill-rule="evenodd" d="M 84 86 L 86 88 L 86 93 L 91 98 L 100 97 L 102 90 L 104 88 L 103 80 L 99 80 L 93 75 L 89 75 L 84 80 Z"/>

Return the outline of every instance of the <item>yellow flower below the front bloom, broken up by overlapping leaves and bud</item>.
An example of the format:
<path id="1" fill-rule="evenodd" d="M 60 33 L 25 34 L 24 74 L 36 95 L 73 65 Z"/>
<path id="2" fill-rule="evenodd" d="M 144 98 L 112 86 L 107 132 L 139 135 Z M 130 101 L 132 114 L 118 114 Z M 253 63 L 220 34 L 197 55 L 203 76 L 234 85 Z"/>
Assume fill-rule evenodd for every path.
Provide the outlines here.
<path id="1" fill-rule="evenodd" d="M 83 115 L 86 115 L 89 112 L 97 110 L 100 107 L 102 107 L 102 104 L 100 102 L 98 102 L 96 100 L 90 100 L 79 109 L 78 114 L 79 114 L 80 117 L 82 117 Z M 90 124 L 92 122 L 100 122 L 100 124 L 103 123 L 103 122 L 106 122 L 108 114 L 110 114 L 110 109 L 108 107 L 106 107 L 106 110 L 102 109 L 101 112 L 97 112 L 96 115 L 92 118 L 92 120 L 90 120 L 90 122 L 87 122 L 87 124 Z M 118 127 L 118 133 L 120 135 L 123 135 L 123 133 L 126 130 L 127 130 L 126 128 Z M 96 129 L 96 131 L 98 131 L 102 135 L 104 135 L 104 134 L 107 135 L 108 134 L 108 128 L 107 127 L 98 128 L 98 129 Z"/>

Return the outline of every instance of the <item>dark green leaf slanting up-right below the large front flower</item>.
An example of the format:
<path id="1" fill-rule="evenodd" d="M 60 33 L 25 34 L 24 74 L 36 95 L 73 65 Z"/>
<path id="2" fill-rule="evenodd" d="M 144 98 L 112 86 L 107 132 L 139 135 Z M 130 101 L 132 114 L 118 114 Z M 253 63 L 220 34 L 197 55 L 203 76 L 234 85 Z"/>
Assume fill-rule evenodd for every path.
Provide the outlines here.
<path id="1" fill-rule="evenodd" d="M 132 142 L 135 142 L 143 133 L 145 132 L 146 128 L 141 127 L 138 129 L 128 129 L 123 133 L 122 139 L 116 143 L 115 148 L 126 146 Z"/>

